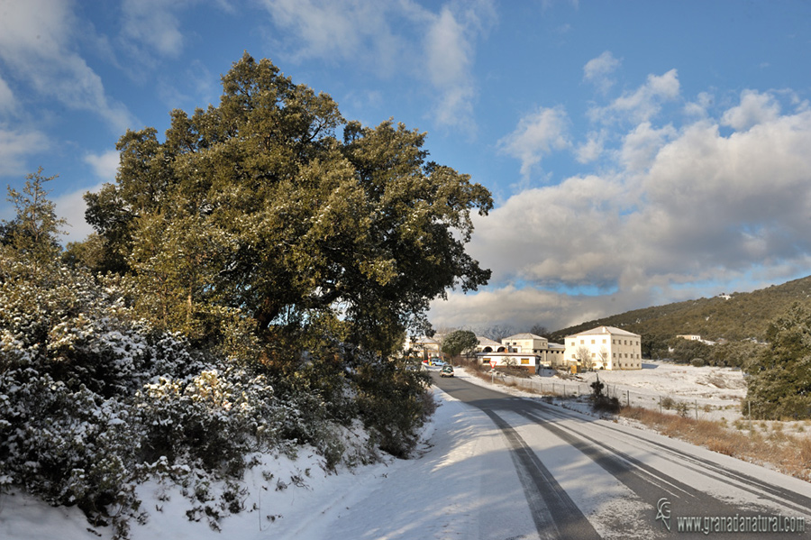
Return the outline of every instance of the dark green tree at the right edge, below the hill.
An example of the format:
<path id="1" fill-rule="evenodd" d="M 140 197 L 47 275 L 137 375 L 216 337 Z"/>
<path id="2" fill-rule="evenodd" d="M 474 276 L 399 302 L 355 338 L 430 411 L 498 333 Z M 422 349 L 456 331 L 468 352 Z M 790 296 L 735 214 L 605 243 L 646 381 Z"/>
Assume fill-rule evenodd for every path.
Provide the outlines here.
<path id="1" fill-rule="evenodd" d="M 770 323 L 766 339 L 769 344 L 745 366 L 752 416 L 811 417 L 811 310 L 795 304 Z"/>

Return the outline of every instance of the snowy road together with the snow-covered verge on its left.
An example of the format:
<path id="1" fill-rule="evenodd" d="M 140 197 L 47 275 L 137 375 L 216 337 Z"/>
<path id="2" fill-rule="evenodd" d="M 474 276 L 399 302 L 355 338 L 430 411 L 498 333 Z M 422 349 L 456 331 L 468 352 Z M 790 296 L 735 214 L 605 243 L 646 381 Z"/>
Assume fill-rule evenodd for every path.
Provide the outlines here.
<path id="1" fill-rule="evenodd" d="M 133 540 L 647 540 L 716 535 L 679 533 L 683 517 L 700 517 L 699 525 L 711 528 L 731 525 L 736 516 L 811 522 L 805 481 L 538 398 L 456 378 L 435 382 L 440 406 L 417 459 L 325 474 L 314 454 L 296 461 L 266 456 L 244 481 L 246 511 L 223 519 L 222 532 L 188 521 L 188 501 L 174 488 L 144 485 L 150 518 L 132 526 Z M 98 533 L 109 536 L 89 531 L 76 508 L 0 495 L 0 538 L 85 540 Z"/>

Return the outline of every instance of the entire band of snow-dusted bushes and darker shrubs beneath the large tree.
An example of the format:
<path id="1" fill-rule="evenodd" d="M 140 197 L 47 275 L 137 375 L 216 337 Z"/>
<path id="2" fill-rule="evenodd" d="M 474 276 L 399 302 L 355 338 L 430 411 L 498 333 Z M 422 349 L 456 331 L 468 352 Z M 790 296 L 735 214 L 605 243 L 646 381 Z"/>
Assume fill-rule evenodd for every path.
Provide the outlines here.
<path id="1" fill-rule="evenodd" d="M 205 347 L 139 318 L 126 279 L 29 270 L 0 249 L 0 490 L 77 505 L 121 537 L 145 517 L 135 487 L 150 475 L 184 485 L 216 526 L 239 505 L 210 486 L 256 453 L 311 444 L 334 468 L 360 418 L 369 456 L 405 456 L 430 413 L 422 374 L 338 339 L 287 351 L 279 370 L 238 313 L 220 319 L 227 343 Z"/>

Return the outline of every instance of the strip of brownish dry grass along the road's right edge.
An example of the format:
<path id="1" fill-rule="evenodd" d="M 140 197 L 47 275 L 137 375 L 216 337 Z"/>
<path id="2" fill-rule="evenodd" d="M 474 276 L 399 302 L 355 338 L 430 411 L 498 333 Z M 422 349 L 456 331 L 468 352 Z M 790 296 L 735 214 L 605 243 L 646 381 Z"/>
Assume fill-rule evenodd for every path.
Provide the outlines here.
<path id="1" fill-rule="evenodd" d="M 640 407 L 625 407 L 620 416 L 638 420 L 673 438 L 704 446 L 747 462 L 768 463 L 778 471 L 805 481 L 811 481 L 811 439 L 790 435 L 776 424 L 770 432 L 768 426 L 751 433 L 743 431 L 743 422 L 729 428 L 722 422 L 696 420 L 684 416 L 665 415 Z"/>

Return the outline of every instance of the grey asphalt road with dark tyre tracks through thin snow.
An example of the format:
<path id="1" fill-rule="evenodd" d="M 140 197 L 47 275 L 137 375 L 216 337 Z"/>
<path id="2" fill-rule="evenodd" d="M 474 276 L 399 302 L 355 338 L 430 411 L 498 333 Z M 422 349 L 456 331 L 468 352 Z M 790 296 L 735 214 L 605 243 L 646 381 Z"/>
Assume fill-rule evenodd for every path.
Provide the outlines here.
<path id="1" fill-rule="evenodd" d="M 811 537 L 797 532 L 800 519 L 811 530 L 807 482 L 540 399 L 432 376 L 501 431 L 541 538 Z M 762 530 L 776 523 L 795 531 Z"/>

